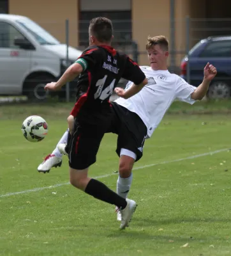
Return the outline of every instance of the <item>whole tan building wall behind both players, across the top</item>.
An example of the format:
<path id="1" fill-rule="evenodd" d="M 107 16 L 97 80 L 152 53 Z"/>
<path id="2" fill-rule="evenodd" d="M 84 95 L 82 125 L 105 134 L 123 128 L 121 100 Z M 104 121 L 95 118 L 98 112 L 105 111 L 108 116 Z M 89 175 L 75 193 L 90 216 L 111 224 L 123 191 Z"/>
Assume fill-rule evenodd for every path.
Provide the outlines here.
<path id="1" fill-rule="evenodd" d="M 91 1 L 101 1 L 101 5 L 89 4 Z M 213 1 L 213 0 L 211 0 Z M 223 1 L 223 0 L 220 0 Z M 107 4 L 106 4 L 107 2 Z M 89 10 L 89 6 L 95 10 L 110 7 L 116 1 L 112 0 L 9 0 L 9 13 L 25 15 L 47 29 L 59 41 L 65 42 L 65 20 L 70 20 L 70 45 L 78 47 L 78 15 L 79 8 Z M 208 12 L 206 7 L 207 1 L 201 0 L 175 0 L 175 48 L 176 51 L 186 49 L 186 16 L 193 18 L 206 17 Z M 131 8 L 132 13 L 132 36 L 138 44 L 138 51 L 142 52 L 139 56 L 140 65 L 148 65 L 145 44 L 147 36 L 165 35 L 170 41 L 170 0 L 118 0 L 116 8 L 121 6 L 121 10 Z M 200 6 L 200 8 L 198 8 Z M 108 7 L 107 7 L 108 8 Z M 115 6 L 113 7 L 115 8 Z M 97 9 L 98 10 L 98 9 Z M 212 11 L 211 11 L 212 12 Z M 118 17 L 119 19 L 119 17 Z M 191 24 L 196 28 L 198 24 Z M 191 38 L 200 38 L 197 31 L 191 31 Z M 191 44 L 196 42 L 191 41 Z M 190 45 L 190 47 L 193 45 Z M 175 64 L 179 65 L 183 53 L 176 54 Z"/>

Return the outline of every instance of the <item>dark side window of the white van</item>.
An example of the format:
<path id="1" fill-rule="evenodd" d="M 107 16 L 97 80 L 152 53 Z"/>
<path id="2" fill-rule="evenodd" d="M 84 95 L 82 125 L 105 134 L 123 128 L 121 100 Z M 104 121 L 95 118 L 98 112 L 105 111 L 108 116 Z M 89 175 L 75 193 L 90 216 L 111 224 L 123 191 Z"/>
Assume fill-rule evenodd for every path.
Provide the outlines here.
<path id="1" fill-rule="evenodd" d="M 19 49 L 19 46 L 14 44 L 15 38 L 25 38 L 25 36 L 11 24 L 0 21 L 0 48 Z"/>

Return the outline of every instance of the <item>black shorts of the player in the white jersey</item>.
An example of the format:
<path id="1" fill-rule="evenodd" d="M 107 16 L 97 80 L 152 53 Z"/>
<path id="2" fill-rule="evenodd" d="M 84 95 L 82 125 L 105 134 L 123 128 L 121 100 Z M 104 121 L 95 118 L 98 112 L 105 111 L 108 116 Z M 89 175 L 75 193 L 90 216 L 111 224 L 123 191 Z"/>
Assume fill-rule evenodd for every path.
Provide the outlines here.
<path id="1" fill-rule="evenodd" d="M 118 134 L 116 153 L 120 156 L 121 148 L 125 148 L 137 155 L 138 161 L 143 155 L 147 127 L 140 116 L 130 110 L 112 102 L 112 122 L 107 132 Z"/>

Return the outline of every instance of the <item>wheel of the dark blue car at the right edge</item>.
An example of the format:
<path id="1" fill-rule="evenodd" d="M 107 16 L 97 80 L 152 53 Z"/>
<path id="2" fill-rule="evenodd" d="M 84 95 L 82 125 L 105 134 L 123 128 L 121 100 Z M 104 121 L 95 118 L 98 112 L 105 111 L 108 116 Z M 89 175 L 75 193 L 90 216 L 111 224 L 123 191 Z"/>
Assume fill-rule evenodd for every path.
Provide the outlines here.
<path id="1" fill-rule="evenodd" d="M 230 97 L 231 87 L 226 81 L 214 81 L 209 86 L 207 97 L 209 99 L 227 99 Z"/>

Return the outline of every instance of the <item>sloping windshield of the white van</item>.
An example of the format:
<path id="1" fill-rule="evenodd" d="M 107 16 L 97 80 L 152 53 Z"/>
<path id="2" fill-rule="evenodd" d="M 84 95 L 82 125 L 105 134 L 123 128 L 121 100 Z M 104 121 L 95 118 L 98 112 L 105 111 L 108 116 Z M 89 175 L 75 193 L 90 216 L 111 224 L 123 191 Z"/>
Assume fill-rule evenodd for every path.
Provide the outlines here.
<path id="1" fill-rule="evenodd" d="M 45 45 L 57 45 L 60 42 L 54 38 L 54 36 L 50 35 L 45 29 L 41 28 L 38 24 L 33 22 L 32 20 L 17 20 L 21 26 L 23 26 L 34 38 L 38 41 L 39 44 Z"/>

